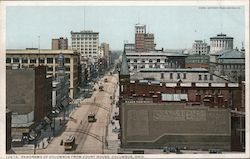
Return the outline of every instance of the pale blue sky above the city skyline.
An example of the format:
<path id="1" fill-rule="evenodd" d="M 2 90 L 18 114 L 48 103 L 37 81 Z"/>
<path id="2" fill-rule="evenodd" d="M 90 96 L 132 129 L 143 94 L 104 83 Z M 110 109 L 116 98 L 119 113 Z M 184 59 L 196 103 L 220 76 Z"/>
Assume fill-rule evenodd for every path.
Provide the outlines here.
<path id="1" fill-rule="evenodd" d="M 67 37 L 70 31 L 99 32 L 99 43 L 122 50 L 124 41 L 134 43 L 135 24 L 145 24 L 154 33 L 156 48 L 191 48 L 194 40 L 220 33 L 234 37 L 234 47 L 245 39 L 244 7 L 198 6 L 8 6 L 6 48 L 50 49 L 51 39 Z"/>

